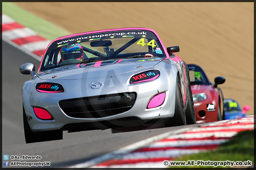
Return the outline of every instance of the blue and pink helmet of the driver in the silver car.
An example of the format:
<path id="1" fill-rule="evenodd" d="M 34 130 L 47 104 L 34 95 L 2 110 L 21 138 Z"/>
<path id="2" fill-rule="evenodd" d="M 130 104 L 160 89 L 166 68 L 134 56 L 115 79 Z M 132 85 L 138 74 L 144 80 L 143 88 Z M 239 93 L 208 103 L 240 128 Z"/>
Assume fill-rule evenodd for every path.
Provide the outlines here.
<path id="1" fill-rule="evenodd" d="M 60 56 L 62 61 L 68 59 L 77 59 L 82 61 L 84 59 L 84 50 L 80 43 L 65 45 L 60 49 Z"/>

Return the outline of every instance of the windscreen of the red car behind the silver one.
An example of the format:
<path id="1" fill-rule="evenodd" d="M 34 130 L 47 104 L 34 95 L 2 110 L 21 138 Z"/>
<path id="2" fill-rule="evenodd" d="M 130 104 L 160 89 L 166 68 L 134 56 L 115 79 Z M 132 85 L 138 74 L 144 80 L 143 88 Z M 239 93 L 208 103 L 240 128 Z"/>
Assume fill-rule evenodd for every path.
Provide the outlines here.
<path id="1" fill-rule="evenodd" d="M 197 66 L 188 66 L 190 73 L 190 84 L 209 85 L 209 82 L 203 70 Z"/>

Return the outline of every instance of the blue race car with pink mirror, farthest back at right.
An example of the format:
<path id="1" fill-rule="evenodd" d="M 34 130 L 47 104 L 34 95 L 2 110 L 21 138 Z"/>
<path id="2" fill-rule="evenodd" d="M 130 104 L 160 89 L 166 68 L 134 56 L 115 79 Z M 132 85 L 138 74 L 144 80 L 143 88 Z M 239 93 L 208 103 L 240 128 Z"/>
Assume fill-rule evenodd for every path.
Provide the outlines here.
<path id="1" fill-rule="evenodd" d="M 245 105 L 243 110 L 238 102 L 234 99 L 224 99 L 225 119 L 240 119 L 246 116 L 246 112 L 250 111 L 251 107 Z"/>

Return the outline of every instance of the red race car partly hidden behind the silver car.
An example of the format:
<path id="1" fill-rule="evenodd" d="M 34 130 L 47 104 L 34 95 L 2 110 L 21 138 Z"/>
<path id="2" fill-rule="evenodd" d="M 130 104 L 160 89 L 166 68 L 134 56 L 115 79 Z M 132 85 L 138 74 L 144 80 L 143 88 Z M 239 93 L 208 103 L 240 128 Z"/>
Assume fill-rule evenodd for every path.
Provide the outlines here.
<path id="1" fill-rule="evenodd" d="M 224 77 L 216 77 L 211 83 L 204 70 L 196 64 L 187 64 L 196 113 L 196 123 L 225 120 L 223 93 L 218 84 Z"/>

